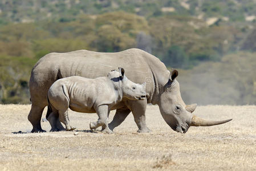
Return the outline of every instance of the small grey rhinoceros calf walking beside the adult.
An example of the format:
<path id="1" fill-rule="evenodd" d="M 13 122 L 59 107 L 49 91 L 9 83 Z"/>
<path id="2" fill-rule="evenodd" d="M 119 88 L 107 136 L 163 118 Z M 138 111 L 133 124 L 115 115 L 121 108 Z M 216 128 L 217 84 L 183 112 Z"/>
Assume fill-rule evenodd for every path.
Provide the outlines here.
<path id="1" fill-rule="evenodd" d="M 51 131 L 64 129 L 58 125 L 58 119 L 66 126 L 67 131 L 75 129 L 68 119 L 68 108 L 83 113 L 97 113 L 99 119 L 90 123 L 92 130 L 102 127 L 105 133 L 112 133 L 108 128 L 108 115 L 118 101 L 123 97 L 130 100 L 146 99 L 145 83 L 131 82 L 125 75 L 124 69 L 111 71 L 108 76 L 87 79 L 80 76 L 70 76 L 57 80 L 48 91 L 47 120 Z"/>

